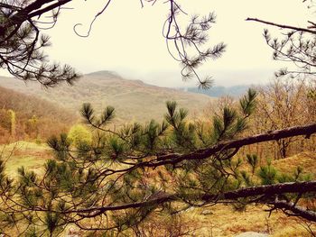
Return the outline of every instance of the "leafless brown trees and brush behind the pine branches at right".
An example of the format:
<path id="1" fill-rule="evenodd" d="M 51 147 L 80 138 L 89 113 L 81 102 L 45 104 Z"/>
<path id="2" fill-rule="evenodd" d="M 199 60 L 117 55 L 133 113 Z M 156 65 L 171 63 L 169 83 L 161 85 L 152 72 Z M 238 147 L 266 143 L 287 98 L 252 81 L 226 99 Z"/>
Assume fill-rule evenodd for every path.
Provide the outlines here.
<path id="1" fill-rule="evenodd" d="M 256 87 L 258 92 L 256 111 L 250 117 L 244 136 L 288 128 L 316 121 L 316 97 L 311 95 L 313 84 L 302 79 L 275 79 L 267 86 Z M 218 98 L 204 109 L 205 117 L 218 114 L 225 106 L 236 106 L 230 96 Z M 203 118 L 205 120 L 205 118 Z M 257 154 L 259 158 L 278 160 L 306 150 L 315 150 L 315 137 L 291 137 L 276 141 L 256 143 L 241 149 L 241 156 Z"/>

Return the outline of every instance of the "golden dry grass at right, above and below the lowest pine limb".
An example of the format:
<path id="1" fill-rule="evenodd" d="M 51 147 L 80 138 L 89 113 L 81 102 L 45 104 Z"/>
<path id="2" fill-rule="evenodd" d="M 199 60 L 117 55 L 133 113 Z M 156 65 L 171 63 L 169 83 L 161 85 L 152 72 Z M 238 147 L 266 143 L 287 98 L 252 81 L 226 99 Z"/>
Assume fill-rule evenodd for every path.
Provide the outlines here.
<path id="1" fill-rule="evenodd" d="M 304 174 L 316 174 L 316 154 L 303 152 L 283 160 L 274 160 L 273 165 L 280 172 L 291 172 L 301 166 Z M 201 214 L 204 210 L 211 214 Z M 184 213 L 185 217 L 199 227 L 195 236 L 235 236 L 240 232 L 266 232 L 273 237 L 311 236 L 303 223 L 295 217 L 282 212 L 267 212 L 265 205 L 248 205 L 246 211 L 237 212 L 228 205 L 215 205 L 203 209 L 191 209 Z M 311 228 L 316 232 L 316 224 Z"/>

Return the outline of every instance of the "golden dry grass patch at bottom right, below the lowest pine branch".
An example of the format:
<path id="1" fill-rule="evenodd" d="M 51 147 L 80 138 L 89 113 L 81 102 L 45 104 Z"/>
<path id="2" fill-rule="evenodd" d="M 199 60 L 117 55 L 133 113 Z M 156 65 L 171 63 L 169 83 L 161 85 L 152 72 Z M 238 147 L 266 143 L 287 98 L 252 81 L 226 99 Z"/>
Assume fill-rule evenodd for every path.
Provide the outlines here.
<path id="1" fill-rule="evenodd" d="M 311 236 L 300 221 L 282 212 L 269 216 L 267 206 L 249 205 L 244 212 L 236 212 L 228 205 L 207 208 L 212 214 L 201 214 L 201 209 L 191 209 L 184 215 L 198 226 L 194 236 L 235 236 L 241 232 L 265 232 L 273 237 Z M 314 226 L 314 230 L 315 230 Z M 315 230 L 316 231 L 316 230 Z"/>

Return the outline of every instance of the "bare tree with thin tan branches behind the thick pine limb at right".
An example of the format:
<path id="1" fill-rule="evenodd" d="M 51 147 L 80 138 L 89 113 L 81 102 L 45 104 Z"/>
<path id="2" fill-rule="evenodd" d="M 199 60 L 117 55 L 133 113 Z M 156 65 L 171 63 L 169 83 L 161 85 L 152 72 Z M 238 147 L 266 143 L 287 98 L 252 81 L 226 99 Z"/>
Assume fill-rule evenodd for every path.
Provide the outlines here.
<path id="1" fill-rule="evenodd" d="M 269 85 L 260 87 L 258 89 L 256 116 L 253 118 L 253 126 L 256 126 L 254 129 L 257 132 L 262 132 L 312 123 L 314 116 L 311 114 L 309 106 L 306 106 L 312 103 L 306 96 L 309 88 L 304 80 L 290 78 L 274 79 Z M 285 158 L 291 155 L 291 146 L 294 145 L 295 141 L 301 140 L 298 138 L 277 140 L 275 142 L 277 146 L 276 157 Z M 303 149 L 302 142 L 299 146 Z M 271 155 L 271 151 L 275 149 L 265 150 L 267 150 L 266 155 Z M 300 150 L 300 148 L 296 147 L 294 150 Z"/>

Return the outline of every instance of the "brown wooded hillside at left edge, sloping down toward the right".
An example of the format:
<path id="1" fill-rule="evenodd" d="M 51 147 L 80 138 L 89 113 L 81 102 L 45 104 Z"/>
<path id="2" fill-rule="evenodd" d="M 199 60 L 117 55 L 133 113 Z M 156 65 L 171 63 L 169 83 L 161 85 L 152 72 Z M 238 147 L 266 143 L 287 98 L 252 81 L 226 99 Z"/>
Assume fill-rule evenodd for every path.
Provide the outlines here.
<path id="1" fill-rule="evenodd" d="M 0 87 L 0 142 L 47 139 L 66 131 L 75 120 L 58 105 Z"/>

